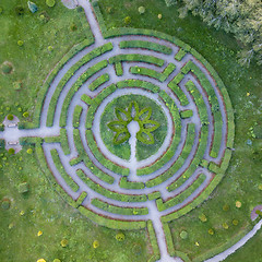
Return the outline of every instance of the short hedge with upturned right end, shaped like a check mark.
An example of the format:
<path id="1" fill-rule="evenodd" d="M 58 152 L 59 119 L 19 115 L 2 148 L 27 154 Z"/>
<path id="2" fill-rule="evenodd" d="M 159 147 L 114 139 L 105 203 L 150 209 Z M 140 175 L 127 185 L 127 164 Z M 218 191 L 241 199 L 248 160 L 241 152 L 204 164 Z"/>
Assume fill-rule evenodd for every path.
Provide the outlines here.
<path id="1" fill-rule="evenodd" d="M 167 78 L 174 72 L 174 70 L 176 69 L 176 66 L 174 63 L 169 63 L 164 70 L 163 72 L 157 72 L 153 69 L 148 69 L 148 68 L 141 68 L 141 67 L 131 67 L 130 68 L 130 72 L 132 74 L 140 74 L 140 75 L 146 75 L 148 78 L 153 78 L 158 80 L 159 82 L 164 82 L 167 80 Z"/>

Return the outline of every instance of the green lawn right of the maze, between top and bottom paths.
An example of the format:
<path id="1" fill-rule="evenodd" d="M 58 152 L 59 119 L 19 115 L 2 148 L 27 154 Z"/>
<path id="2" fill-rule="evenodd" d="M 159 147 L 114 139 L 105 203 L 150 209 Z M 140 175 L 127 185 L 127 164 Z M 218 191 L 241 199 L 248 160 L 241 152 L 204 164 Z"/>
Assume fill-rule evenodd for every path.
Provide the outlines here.
<path id="1" fill-rule="evenodd" d="M 243 227 L 251 226 L 250 211 L 261 204 L 261 67 L 251 64 L 249 69 L 241 68 L 237 63 L 240 48 L 231 35 L 214 31 L 192 15 L 180 20 L 177 7 L 166 8 L 164 1 L 100 0 L 99 5 L 108 28 L 129 26 L 157 29 L 186 41 L 210 61 L 227 86 L 236 122 L 235 152 L 230 167 L 207 202 L 188 216 L 170 223 L 176 249 L 188 253 L 190 258 L 196 258 L 228 241 Z M 138 11 L 140 5 L 145 7 L 142 15 Z M 157 17 L 158 14 L 162 14 L 162 20 Z M 131 19 L 129 25 L 124 24 L 126 16 Z M 252 142 L 251 145 L 247 144 L 248 140 Z M 236 207 L 236 201 L 242 203 L 240 209 Z M 224 205 L 228 205 L 229 211 L 225 212 Z M 202 213 L 207 217 L 206 223 L 199 219 Z M 233 219 L 238 219 L 239 224 L 234 226 Z M 228 229 L 223 227 L 224 223 L 228 224 Z M 211 228 L 215 231 L 213 236 L 209 234 Z M 179 237 L 183 229 L 189 233 L 187 240 Z M 195 242 L 199 242 L 199 246 Z M 257 261 L 255 258 L 261 255 L 259 242 L 257 246 L 255 240 L 250 242 L 252 248 L 245 250 L 250 251 L 248 253 L 253 258 L 250 261 Z M 238 260 L 239 255 L 236 258 L 229 261 L 242 261 Z"/>

